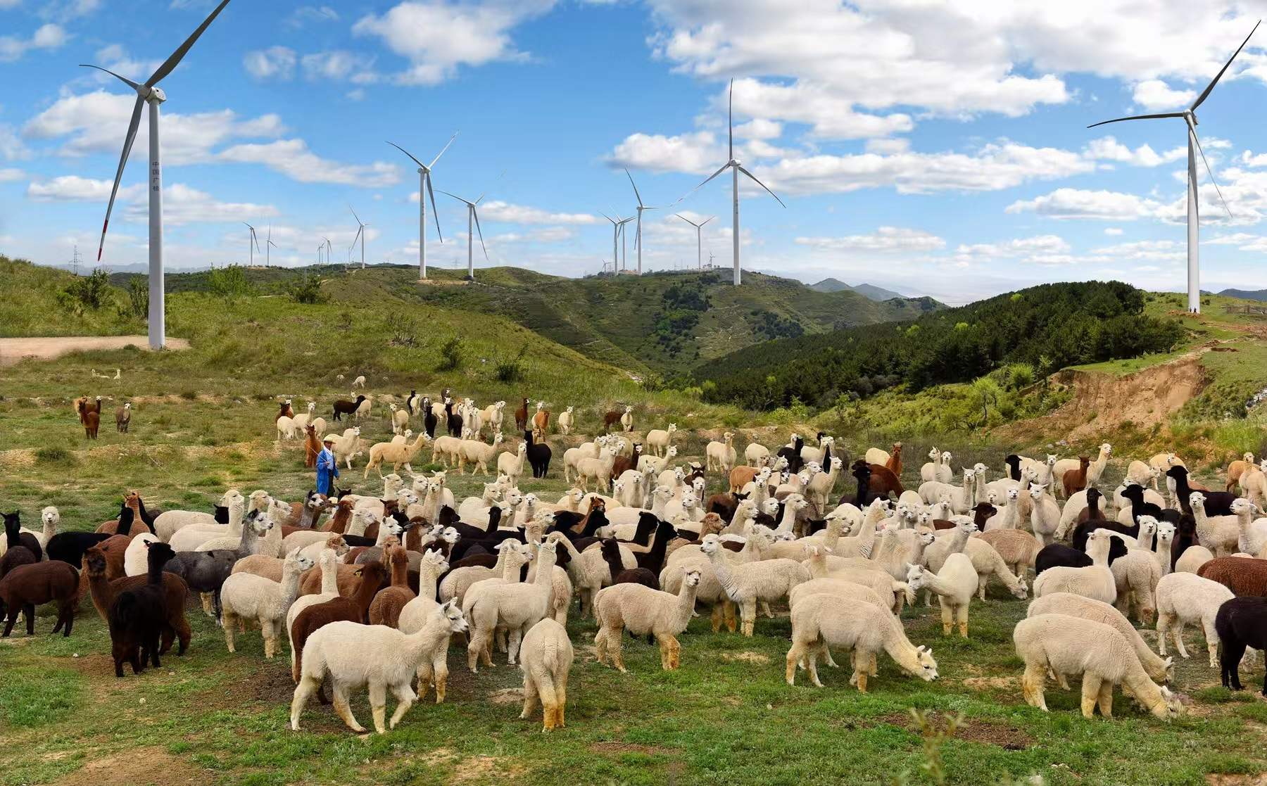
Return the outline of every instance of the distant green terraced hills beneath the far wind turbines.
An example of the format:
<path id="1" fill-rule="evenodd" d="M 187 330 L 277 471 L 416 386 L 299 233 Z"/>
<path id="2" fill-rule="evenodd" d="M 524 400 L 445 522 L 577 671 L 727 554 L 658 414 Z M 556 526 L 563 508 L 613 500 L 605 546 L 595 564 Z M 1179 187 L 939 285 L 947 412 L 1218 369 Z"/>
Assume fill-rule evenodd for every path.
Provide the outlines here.
<path id="1" fill-rule="evenodd" d="M 345 271 L 342 266 L 246 272 L 261 292 L 281 291 L 295 278 L 319 275 L 336 301 L 381 297 L 440 305 L 511 319 L 583 354 L 635 373 L 684 373 L 750 344 L 825 333 L 850 325 L 914 319 L 940 308 L 931 299 L 875 303 L 851 291 L 817 292 L 797 281 L 749 273 L 742 287 L 716 273 L 647 273 L 563 278 L 514 267 L 465 271 L 432 268 L 419 282 L 412 266 Z M 170 291 L 205 290 L 210 273 L 167 277 Z M 131 278 L 115 276 L 120 285 Z"/>

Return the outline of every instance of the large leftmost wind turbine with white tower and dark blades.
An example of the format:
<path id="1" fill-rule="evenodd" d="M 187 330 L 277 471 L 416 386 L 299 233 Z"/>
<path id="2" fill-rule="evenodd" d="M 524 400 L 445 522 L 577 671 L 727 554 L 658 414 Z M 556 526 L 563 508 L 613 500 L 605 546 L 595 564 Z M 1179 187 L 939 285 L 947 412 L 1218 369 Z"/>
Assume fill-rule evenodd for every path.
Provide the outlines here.
<path id="1" fill-rule="evenodd" d="M 180 61 L 194 46 L 198 38 L 207 30 L 208 25 L 215 20 L 229 0 L 222 0 L 219 5 L 198 25 L 193 35 L 163 61 L 158 70 L 150 75 L 143 85 L 138 85 L 129 78 L 122 77 L 113 71 L 106 71 L 100 66 L 80 63 L 84 68 L 96 68 L 105 71 L 128 87 L 137 91 L 137 103 L 132 108 L 132 120 L 128 123 L 128 135 L 123 138 L 123 154 L 119 156 L 119 170 L 114 173 L 114 187 L 110 189 L 110 201 L 105 206 L 105 220 L 101 223 L 101 243 L 96 247 L 96 261 L 101 261 L 101 251 L 105 248 L 105 230 L 110 225 L 110 213 L 114 210 L 114 197 L 119 194 L 119 181 L 123 180 L 123 168 L 128 163 L 128 153 L 132 152 L 132 143 L 137 138 L 137 129 L 141 127 L 141 108 L 150 104 L 150 348 L 161 349 L 167 343 L 167 324 L 163 301 L 163 267 L 162 267 L 162 158 L 158 146 L 158 105 L 167 100 L 167 94 L 157 87 L 158 82 L 176 70 Z"/>

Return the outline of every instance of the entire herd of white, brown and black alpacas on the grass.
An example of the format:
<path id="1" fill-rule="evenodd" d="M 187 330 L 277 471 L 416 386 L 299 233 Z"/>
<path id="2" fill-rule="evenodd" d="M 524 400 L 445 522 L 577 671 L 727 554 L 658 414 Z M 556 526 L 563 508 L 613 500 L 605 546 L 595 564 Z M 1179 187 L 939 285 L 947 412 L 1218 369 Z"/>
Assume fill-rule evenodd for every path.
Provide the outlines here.
<path id="1" fill-rule="evenodd" d="M 332 419 L 360 419 L 367 404 L 366 394 L 334 401 Z M 293 729 L 313 695 L 327 702 L 328 685 L 334 713 L 355 732 L 364 727 L 350 696 L 364 689 L 379 733 L 432 689 L 445 701 L 452 647 L 465 647 L 473 673 L 504 652 L 523 673 L 522 718 L 540 704 L 544 729 L 563 727 L 573 615 L 597 627 L 599 664 L 626 671 L 628 633 L 655 642 L 670 671 L 691 654 L 678 637 L 694 615 L 711 616 L 715 633 L 754 637 L 769 635 L 763 616 L 787 609 L 787 682 L 803 670 L 821 687 L 818 664 L 849 652 L 849 683 L 865 692 L 881 653 L 920 680 L 945 670 L 944 653 L 939 667 L 927 642 L 906 633 L 903 616 L 927 613 L 920 595 L 924 608 L 936 596 L 943 635 L 968 638 L 990 585 L 1017 600 L 1033 590 L 1014 629 L 1022 697 L 1045 710 L 1049 677 L 1064 689 L 1081 677 L 1088 718 L 1095 708 L 1111 715 L 1119 685 L 1158 718 L 1180 713 L 1167 651 L 1173 642 L 1188 657 L 1188 624 L 1233 689 L 1239 670 L 1254 667 L 1247 648 L 1267 646 L 1267 462 L 1251 454 L 1216 491 L 1200 487 L 1173 453 L 1129 462 L 1120 486 L 1101 487 L 1107 443 L 1093 457 L 1010 454 L 997 472 L 959 467 L 931 448 L 916 475 L 903 467 L 901 443 L 850 461 L 824 433 L 740 449 L 737 430 L 726 430 L 699 442 L 701 463 L 679 459 L 701 435 L 675 423 L 640 438 L 632 406 L 601 410 L 599 433 L 585 440 L 585 413 L 568 406 L 555 418 L 554 449 L 571 487 L 554 501 L 521 487 L 550 477 L 550 410 L 538 401 L 533 413 L 522 397 L 519 435 L 507 439 L 504 408 L 411 391 L 384 413 L 390 440 L 366 446 L 361 427 L 348 428 L 336 454 L 348 467 L 366 454 L 361 480 L 378 470 L 381 492 L 313 491 L 289 502 L 229 489 L 207 513 L 155 511 L 129 491 L 95 533 L 58 532 L 52 506 L 38 530 L 5 514 L 4 635 L 19 615 L 33 634 L 34 609 L 46 602 L 57 604 L 54 632 L 71 635 L 87 592 L 108 624 L 117 676 L 124 666 L 141 673 L 172 646 L 177 654 L 190 646 L 193 590 L 229 653 L 248 628 L 261 632 L 265 658 L 289 651 Z M 85 397 L 76 409 L 87 428 L 100 401 Z M 296 416 L 286 399 L 275 415 L 279 439 L 314 439 L 326 429 L 315 413 L 309 402 Z M 416 472 L 427 446 L 442 468 Z M 455 499 L 450 473 L 466 470 L 488 482 Z M 905 606 L 912 610 L 903 615 Z M 1145 639 L 1135 624 L 1156 633 Z"/>

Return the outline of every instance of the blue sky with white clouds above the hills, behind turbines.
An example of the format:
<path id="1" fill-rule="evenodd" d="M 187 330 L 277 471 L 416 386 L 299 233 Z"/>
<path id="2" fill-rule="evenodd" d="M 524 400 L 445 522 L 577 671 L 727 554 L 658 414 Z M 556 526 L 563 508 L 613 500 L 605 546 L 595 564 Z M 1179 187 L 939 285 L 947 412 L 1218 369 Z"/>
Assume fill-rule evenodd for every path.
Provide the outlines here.
<path id="1" fill-rule="evenodd" d="M 0 252 L 89 261 L 134 94 L 208 0 L 0 0 Z M 437 189 L 487 191 L 494 265 L 560 275 L 611 257 L 601 211 L 631 215 L 634 172 L 665 205 L 736 157 L 787 203 L 741 189 L 744 266 L 870 281 L 952 303 L 1039 281 L 1185 280 L 1182 120 L 1088 123 L 1190 103 L 1267 3 L 1157 0 L 233 0 L 162 87 L 171 268 L 245 262 L 241 221 L 272 262 L 334 258 L 370 224 L 370 261 L 417 261 L 413 166 L 460 130 Z M 1199 110 L 1229 219 L 1201 168 L 1202 286 L 1267 286 L 1267 29 Z M 19 89 L 20 86 L 20 89 Z M 106 238 L 108 266 L 146 259 L 144 124 Z M 465 266 L 461 204 L 437 194 L 441 246 Z M 673 216 L 717 218 L 718 177 L 646 214 L 646 268 L 694 265 Z M 632 233 L 628 259 L 634 265 Z M 487 265 L 476 248 L 476 265 Z"/>

